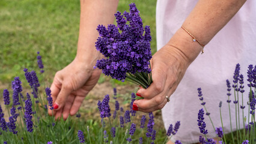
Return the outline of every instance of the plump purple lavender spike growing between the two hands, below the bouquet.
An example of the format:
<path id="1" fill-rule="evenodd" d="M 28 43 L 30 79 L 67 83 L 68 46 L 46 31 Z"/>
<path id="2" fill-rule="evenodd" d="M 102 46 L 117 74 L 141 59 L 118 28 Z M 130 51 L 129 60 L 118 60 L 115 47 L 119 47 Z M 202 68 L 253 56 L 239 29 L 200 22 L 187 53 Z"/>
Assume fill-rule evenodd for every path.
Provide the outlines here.
<path id="1" fill-rule="evenodd" d="M 98 107 L 100 111 L 100 117 L 106 118 L 111 116 L 110 113 L 110 107 L 109 107 L 109 95 L 105 95 L 105 98 L 103 98 L 102 102 L 98 102 Z"/>

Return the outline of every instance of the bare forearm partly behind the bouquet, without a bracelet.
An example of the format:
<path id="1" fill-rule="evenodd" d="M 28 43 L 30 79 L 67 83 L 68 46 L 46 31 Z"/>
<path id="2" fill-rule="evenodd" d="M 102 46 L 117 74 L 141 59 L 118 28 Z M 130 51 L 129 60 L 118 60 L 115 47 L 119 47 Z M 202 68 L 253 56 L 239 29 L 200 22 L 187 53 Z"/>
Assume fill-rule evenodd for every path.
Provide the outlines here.
<path id="1" fill-rule="evenodd" d="M 80 29 L 76 59 L 94 65 L 102 55 L 96 50 L 95 42 L 99 34 L 98 25 L 109 25 L 114 22 L 118 0 L 81 0 Z"/>

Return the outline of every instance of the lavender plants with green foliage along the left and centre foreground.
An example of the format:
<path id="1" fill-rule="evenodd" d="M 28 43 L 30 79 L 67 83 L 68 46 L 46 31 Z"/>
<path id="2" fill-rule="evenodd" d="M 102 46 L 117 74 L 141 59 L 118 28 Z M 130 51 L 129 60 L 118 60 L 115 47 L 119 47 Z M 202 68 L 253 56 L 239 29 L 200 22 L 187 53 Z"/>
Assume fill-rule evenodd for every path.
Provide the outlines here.
<path id="1" fill-rule="evenodd" d="M 41 57 L 38 65 L 43 65 Z M 41 71 L 42 67 L 39 68 Z M 5 111 L 0 105 L 0 143 L 162 143 L 164 141 L 165 137 L 162 137 L 162 141 L 156 141 L 160 133 L 157 133 L 159 130 L 154 130 L 153 113 L 149 113 L 148 118 L 142 115 L 141 121 L 136 122 L 135 116 L 138 117 L 139 113 L 132 110 L 135 94 L 131 94 L 130 107 L 124 110 L 125 108 L 120 106 L 118 101 L 120 95 L 117 95 L 115 88 L 113 113 L 109 106 L 110 95 L 105 95 L 105 98 L 98 103 L 101 122 L 81 119 L 81 112 L 78 112 L 75 118 L 69 117 L 66 121 L 60 118 L 55 121 L 53 116 L 47 115 L 48 108 L 52 109 L 50 88 L 41 88 L 35 71 L 25 68 L 23 72 L 26 78 L 24 82 L 19 77 L 15 77 L 11 83 L 12 91 L 4 89 L 2 92 Z M 26 89 L 26 92 L 23 92 L 22 84 L 26 82 L 31 90 Z M 177 133 L 179 125 L 179 122 L 178 125 L 175 124 L 174 130 L 167 136 Z"/>

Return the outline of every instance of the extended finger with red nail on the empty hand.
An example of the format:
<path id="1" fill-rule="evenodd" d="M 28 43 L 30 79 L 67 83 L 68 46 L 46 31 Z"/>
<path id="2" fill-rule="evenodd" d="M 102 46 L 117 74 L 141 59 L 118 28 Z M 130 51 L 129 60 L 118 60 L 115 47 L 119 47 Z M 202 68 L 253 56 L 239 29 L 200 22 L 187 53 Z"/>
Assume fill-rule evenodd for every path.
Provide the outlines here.
<path id="1" fill-rule="evenodd" d="M 70 93 L 73 91 L 72 86 L 68 82 L 70 81 L 66 80 L 66 82 L 62 83 L 61 91 L 59 92 L 58 96 L 56 97 L 56 101 L 53 104 L 54 110 L 62 109 Z"/>

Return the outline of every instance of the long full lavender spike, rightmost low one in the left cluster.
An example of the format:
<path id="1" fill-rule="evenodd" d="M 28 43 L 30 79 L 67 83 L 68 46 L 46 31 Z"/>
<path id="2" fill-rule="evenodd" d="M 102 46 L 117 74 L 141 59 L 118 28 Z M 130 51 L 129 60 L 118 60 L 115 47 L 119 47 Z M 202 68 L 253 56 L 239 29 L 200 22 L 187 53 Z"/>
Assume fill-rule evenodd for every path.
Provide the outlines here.
<path id="1" fill-rule="evenodd" d="M 33 121 L 32 121 L 32 101 L 30 98 L 28 98 L 25 101 L 25 115 L 24 118 L 26 119 L 26 130 L 28 130 L 28 132 L 32 132 L 33 131 Z"/>

